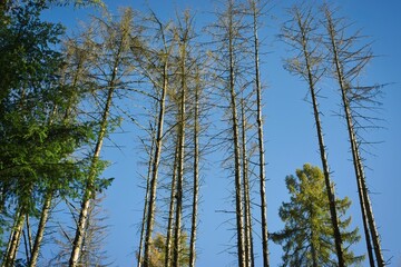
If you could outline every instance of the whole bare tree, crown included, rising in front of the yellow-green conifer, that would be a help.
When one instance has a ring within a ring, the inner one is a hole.
[[[314,20],[314,13],[311,8],[300,8],[294,6],[290,12],[292,20],[284,24],[282,30],[282,38],[297,52],[297,55],[294,58],[286,60],[285,68],[290,72],[304,79],[309,86],[313,106],[314,122],[317,131],[320,156],[325,178],[326,195],[330,205],[338,261],[339,266],[343,267],[345,261],[343,255],[342,236],[340,234],[339,217],[335,207],[335,191],[334,185],[330,178],[326,147],[324,145],[323,128],[320,118],[321,112],[317,102],[317,82],[324,72],[322,66],[323,56],[320,40],[316,38],[317,27]]]

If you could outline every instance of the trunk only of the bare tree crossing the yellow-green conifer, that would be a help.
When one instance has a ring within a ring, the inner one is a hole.
[[[326,191],[327,191],[331,221],[333,225],[333,237],[334,237],[334,243],[335,243],[335,251],[336,251],[336,256],[338,256],[338,260],[339,260],[339,267],[344,267],[345,263],[344,263],[344,256],[343,256],[343,250],[342,250],[342,237],[341,237],[340,227],[339,227],[339,217],[338,217],[336,208],[335,208],[334,187],[330,179],[329,162],[327,162],[325,145],[324,145],[324,139],[323,139],[323,131],[322,131],[322,126],[321,126],[321,120],[320,120],[319,103],[317,103],[316,93],[315,93],[315,80],[312,75],[312,69],[311,69],[311,63],[310,63],[311,58],[310,58],[310,53],[307,51],[307,37],[306,37],[307,33],[306,33],[306,29],[303,26],[301,13],[297,12],[296,16],[297,16],[297,18],[296,18],[297,24],[300,27],[300,31],[301,31],[301,36],[302,36],[303,55],[304,55],[305,62],[306,62],[305,67],[306,67],[306,71],[307,71],[307,80],[309,80],[309,87],[310,87],[310,92],[311,92],[311,98],[312,98],[313,113],[314,113],[315,126],[316,126],[316,131],[317,131],[319,149],[320,149],[320,155],[321,155],[321,160],[322,160],[322,166],[323,166],[325,187],[326,187]]]

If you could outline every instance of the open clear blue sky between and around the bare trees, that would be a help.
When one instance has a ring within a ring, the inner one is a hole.
[[[116,10],[117,6],[129,6],[134,9],[145,10],[145,1],[106,1]],[[186,7],[196,11],[196,24],[207,23],[213,11],[213,1],[207,0],[148,0],[148,6],[162,18],[175,18],[176,9]],[[285,2],[285,3],[284,3]],[[303,164],[311,162],[321,166],[317,152],[317,139],[313,123],[312,109],[304,101],[306,87],[299,78],[288,75],[282,68],[282,59],[286,50],[276,38],[278,26],[287,19],[284,8],[294,1],[275,1],[271,10],[272,18],[266,19],[266,27],[261,30],[265,38],[265,51],[263,57],[263,81],[268,89],[264,93],[265,116],[265,141],[266,141],[266,175],[270,179],[266,185],[268,201],[268,229],[280,230],[283,227],[277,216],[282,201],[287,201],[288,196],[284,184],[287,175],[294,174]],[[316,1],[320,2],[320,1]],[[387,129],[368,132],[370,140],[383,141],[370,149],[374,156],[366,156],[368,184],[372,191],[373,211],[382,237],[382,248],[385,259],[391,258],[390,266],[401,266],[401,2],[398,0],[340,0],[335,1],[342,9],[341,13],[355,21],[356,28],[363,28],[363,33],[371,36],[373,51],[381,57],[374,59],[365,73],[366,83],[393,82],[384,88],[382,99],[383,110],[380,117],[385,120]],[[61,19],[71,27],[76,19],[82,19],[89,10],[80,11],[53,11],[52,18]],[[329,149],[329,161],[336,184],[336,192],[340,197],[349,196],[353,205],[349,214],[353,217],[353,225],[360,227],[360,210],[358,206],[356,185],[349,154],[348,135],[344,122],[334,111],[340,107],[333,105],[335,95],[326,93],[321,106],[325,116],[323,128],[325,142]],[[135,132],[115,135],[113,139],[118,145],[125,146],[123,151],[114,148],[104,150],[104,158],[113,165],[105,176],[116,177],[113,186],[107,190],[105,207],[109,215],[110,235],[106,245],[110,259],[115,259],[116,266],[134,266],[135,250],[138,245],[137,227],[141,220],[144,190],[138,188],[139,179],[137,171],[141,166],[138,164],[138,145]],[[129,145],[133,144],[133,145]],[[202,205],[199,214],[198,234],[198,260],[197,266],[235,266],[235,256],[225,249],[234,246],[235,239],[229,222],[225,222],[229,216],[215,212],[227,206],[227,197],[232,190],[232,184],[218,170],[219,160],[209,158],[212,162],[203,172],[204,182],[200,189]],[[234,220],[231,221],[234,224]],[[255,241],[258,238],[255,237]],[[364,253],[363,239],[355,250]],[[235,249],[232,249],[235,251]],[[270,244],[271,264],[276,266],[281,261],[282,250],[280,246]],[[257,260],[261,260],[258,257]],[[260,261],[257,261],[260,263]],[[256,264],[258,266],[258,264]]]

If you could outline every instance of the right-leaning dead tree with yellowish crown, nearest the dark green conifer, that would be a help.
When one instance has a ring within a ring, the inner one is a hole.
[[[86,225],[90,202],[96,197],[96,192],[107,187],[108,179],[99,179],[98,176],[102,169],[100,161],[100,151],[107,134],[113,127],[110,111],[113,99],[118,89],[127,88],[125,77],[134,72],[133,59],[128,57],[131,46],[133,30],[133,10],[126,9],[120,21],[102,20],[97,18],[98,28],[90,29],[88,33],[94,34],[91,47],[88,52],[92,53],[92,90],[95,101],[100,106],[100,118],[96,144],[91,151],[90,166],[87,179],[84,185],[84,195],[81,199],[80,214],[77,222],[76,235],[72,243],[69,266],[77,266],[82,250],[82,240],[85,238]],[[97,42],[100,38],[99,42]]]

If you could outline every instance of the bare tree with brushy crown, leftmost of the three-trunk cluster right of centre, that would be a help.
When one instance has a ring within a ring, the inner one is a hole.
[[[239,105],[238,96],[246,88],[246,70],[244,59],[246,58],[246,31],[244,22],[244,9],[235,0],[227,0],[224,10],[217,11],[217,21],[211,26],[211,33],[216,43],[212,55],[216,62],[214,86],[221,86],[222,98],[226,99],[227,125],[229,127],[228,142],[231,147],[231,160],[234,175],[234,199],[237,239],[237,260],[239,267],[246,266],[245,258],[245,229],[244,229],[244,202],[242,187],[241,166],[241,136],[239,136]],[[212,31],[213,29],[213,31]],[[244,72],[242,72],[244,71]]]

